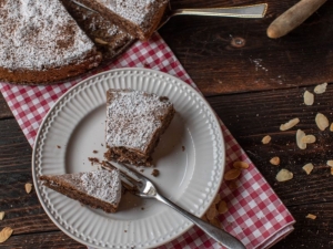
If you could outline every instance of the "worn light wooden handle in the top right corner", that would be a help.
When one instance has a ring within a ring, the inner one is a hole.
[[[281,38],[299,27],[326,0],[301,0],[276,18],[268,29],[269,38]]]

